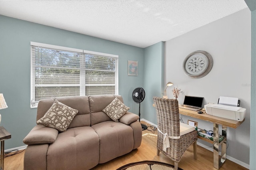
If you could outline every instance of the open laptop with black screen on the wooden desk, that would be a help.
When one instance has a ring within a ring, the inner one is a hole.
[[[199,111],[202,109],[203,100],[204,97],[185,96],[184,103],[179,108]]]

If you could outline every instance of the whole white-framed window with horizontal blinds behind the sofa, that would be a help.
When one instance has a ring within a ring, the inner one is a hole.
[[[118,56],[31,42],[31,107],[51,97],[118,94]]]

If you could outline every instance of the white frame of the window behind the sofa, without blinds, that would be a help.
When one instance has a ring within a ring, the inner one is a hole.
[[[32,56],[32,46],[36,47],[42,47],[42,48],[49,48],[49,49],[55,49],[55,50],[60,50],[60,51],[69,51],[69,52],[75,52],[75,53],[82,53],[83,56],[80,58],[80,96],[85,96],[86,94],[86,86],[89,86],[86,84],[86,68],[85,68],[85,55],[98,55],[102,57],[113,57],[118,59],[118,55],[113,55],[113,54],[108,54],[108,53],[100,53],[100,52],[95,52],[95,51],[88,51],[88,50],[83,50],[83,49],[76,49],[76,48],[70,48],[70,47],[62,47],[58,45],[50,45],[50,44],[45,44],[45,43],[38,43],[38,42],[30,42],[31,46],[31,73],[30,73],[30,108],[37,108],[38,101],[34,101],[35,99],[35,61],[33,61],[33,56]],[[83,67],[83,69],[81,69]],[[115,72],[115,95],[118,95],[118,60],[116,63],[116,70]],[[82,73],[82,74],[81,74]],[[109,84],[105,84],[109,85]],[[97,86],[95,84],[94,86]],[[102,85],[100,85],[102,86]]]

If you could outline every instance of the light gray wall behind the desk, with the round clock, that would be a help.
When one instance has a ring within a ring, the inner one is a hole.
[[[209,52],[214,60],[212,70],[200,79],[191,79],[182,68],[185,57],[196,50]],[[251,17],[248,8],[202,26],[165,44],[165,83],[171,81],[182,89],[178,97],[183,103],[184,95],[204,97],[204,104],[217,103],[220,96],[238,97],[246,117],[240,127],[228,128],[227,155],[249,164],[250,151],[250,84],[251,84]],[[172,87],[167,95],[173,98]],[[198,121],[199,128],[213,130],[212,123]],[[211,146],[207,142],[198,140]]]

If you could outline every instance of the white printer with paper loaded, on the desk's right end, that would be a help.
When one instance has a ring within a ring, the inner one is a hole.
[[[235,121],[243,121],[246,109],[238,107],[239,104],[240,103],[238,101],[238,98],[220,97],[218,104],[209,103],[207,105],[204,105],[204,108],[208,115],[213,115]]]

